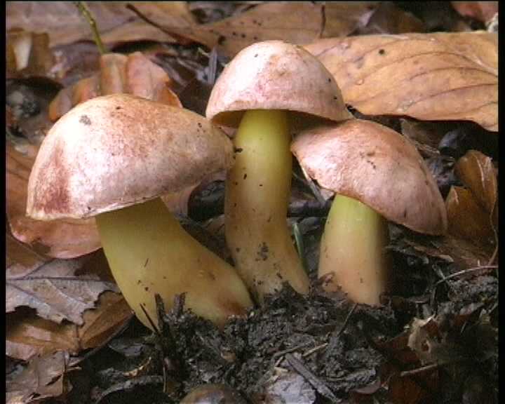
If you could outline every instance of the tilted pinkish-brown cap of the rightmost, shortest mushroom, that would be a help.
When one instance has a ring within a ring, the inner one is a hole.
[[[291,150],[321,187],[365,203],[391,222],[443,234],[447,213],[417,149],[394,130],[353,119],[304,130]]]

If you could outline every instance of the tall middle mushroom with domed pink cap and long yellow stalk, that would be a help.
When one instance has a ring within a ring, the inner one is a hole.
[[[206,116],[222,126],[238,126],[224,215],[227,243],[239,274],[259,302],[284,281],[307,293],[309,278],[286,223],[292,175],[290,126],[351,118],[335,80],[300,46],[254,43],[224,68],[210,94]]]

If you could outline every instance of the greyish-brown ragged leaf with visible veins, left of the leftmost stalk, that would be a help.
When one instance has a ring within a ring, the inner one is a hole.
[[[36,309],[42,318],[56,323],[67,319],[82,325],[83,311],[95,307],[100,293],[105,290],[119,292],[114,283],[102,281],[95,274],[76,275],[93,257],[34,260],[29,266],[10,259],[11,265],[6,269],[6,312],[27,306]]]

